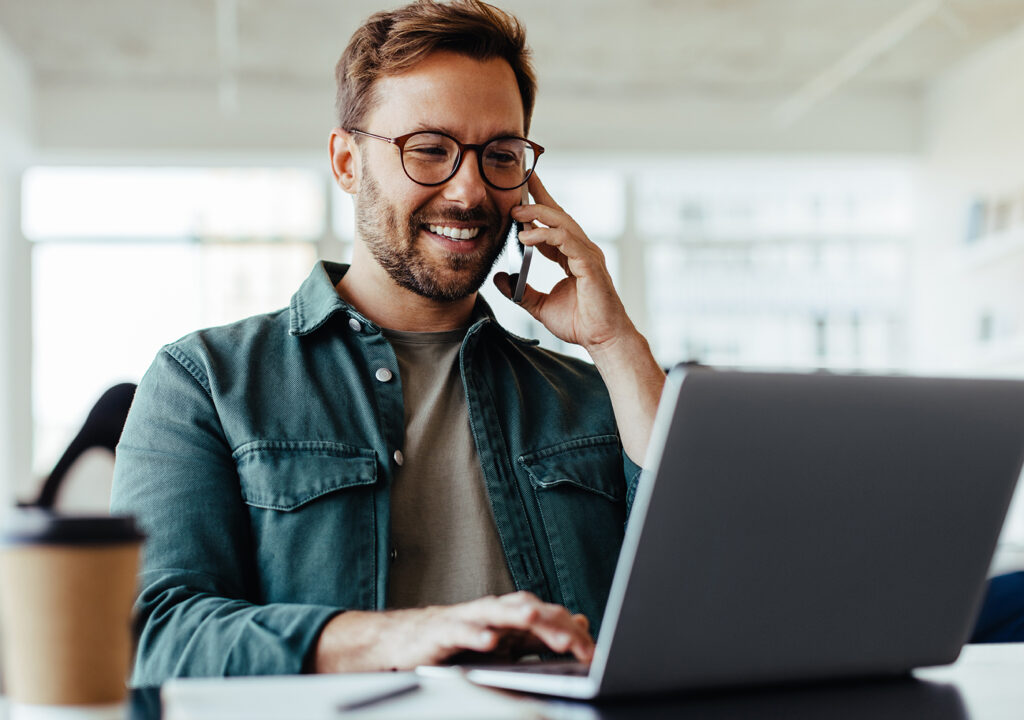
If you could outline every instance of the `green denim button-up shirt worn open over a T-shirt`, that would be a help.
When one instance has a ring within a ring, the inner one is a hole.
[[[167,345],[142,378],[112,498],[148,535],[133,684],[299,673],[332,617],[385,607],[401,378],[335,292],[346,270],[317,263],[290,307]],[[596,633],[640,470],[600,376],[482,299],[459,363],[516,587]]]

